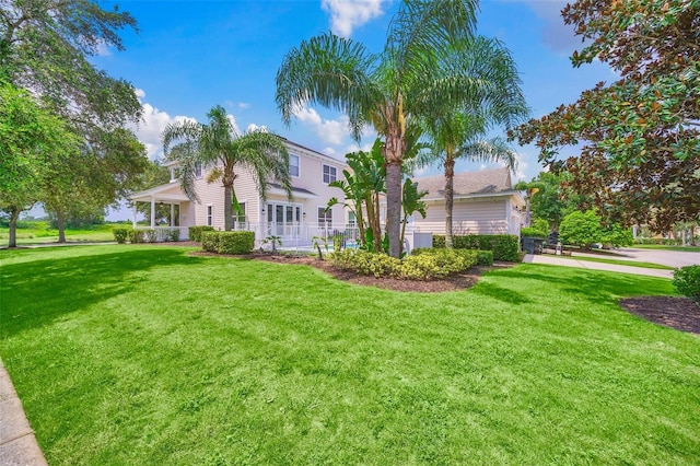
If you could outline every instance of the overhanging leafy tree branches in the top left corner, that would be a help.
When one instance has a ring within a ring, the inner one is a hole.
[[[51,103],[88,136],[141,115],[136,90],[88,60],[124,49],[119,32],[136,20],[94,0],[0,0],[0,77]]]

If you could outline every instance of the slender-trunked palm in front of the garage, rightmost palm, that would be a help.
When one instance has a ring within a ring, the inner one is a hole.
[[[440,161],[445,172],[445,246],[453,246],[452,211],[454,167],[457,159],[500,162],[515,170],[515,152],[501,138],[482,139],[493,125],[510,129],[528,115],[521,80],[510,53],[497,39],[475,37],[440,57],[439,69],[448,75],[457,67],[479,85],[457,105],[445,101],[431,107],[421,124],[432,141],[432,152],[421,154],[421,165]],[[444,71],[443,71],[444,70]]]

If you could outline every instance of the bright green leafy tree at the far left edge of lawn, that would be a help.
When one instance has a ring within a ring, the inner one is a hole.
[[[0,85],[0,210],[10,214],[9,247],[16,246],[16,222],[63,176],[62,166],[78,152],[69,125],[26,91]]]

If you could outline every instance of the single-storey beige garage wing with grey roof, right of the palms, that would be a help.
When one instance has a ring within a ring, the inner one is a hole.
[[[413,231],[445,234],[445,176],[413,178],[428,205],[425,219],[413,215]],[[513,189],[509,168],[480,170],[454,175],[452,231],[462,234],[520,235],[525,200]]]

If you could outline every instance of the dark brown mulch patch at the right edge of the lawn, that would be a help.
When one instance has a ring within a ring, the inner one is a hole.
[[[654,324],[700,335],[700,306],[687,298],[640,296],[619,303],[626,311]]]

